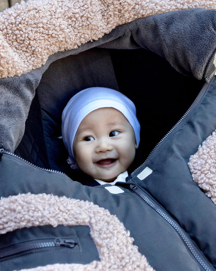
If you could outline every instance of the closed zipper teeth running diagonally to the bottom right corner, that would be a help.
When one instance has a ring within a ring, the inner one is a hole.
[[[148,205],[150,205],[157,213],[159,213],[176,231],[177,233],[181,236],[181,238],[184,240],[185,244],[187,245],[187,247],[189,248],[189,250],[191,251],[191,253],[193,254],[194,258],[198,261],[198,263],[206,270],[206,271],[210,271],[210,269],[208,268],[208,266],[203,262],[203,260],[201,260],[201,258],[197,255],[197,252],[194,250],[194,248],[192,247],[190,241],[188,240],[188,238],[186,237],[186,235],[182,232],[182,230],[177,226],[177,224],[172,221],[172,219],[170,219],[162,210],[160,210],[158,207],[156,207],[156,205],[150,200],[148,199],[145,195],[143,195],[142,192],[140,192],[137,188],[134,188],[133,191],[139,195]]]

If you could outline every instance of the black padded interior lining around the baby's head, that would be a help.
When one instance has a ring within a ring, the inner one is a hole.
[[[16,153],[36,165],[63,171],[75,180],[77,173],[67,165],[68,154],[59,138],[61,112],[78,91],[108,87],[128,96],[137,108],[141,140],[133,170],[184,115],[203,84],[183,76],[165,59],[145,49],[93,48],[56,60],[42,76],[34,99],[40,112],[37,109],[32,115],[30,110],[26,132]],[[28,133],[39,143],[29,144]]]

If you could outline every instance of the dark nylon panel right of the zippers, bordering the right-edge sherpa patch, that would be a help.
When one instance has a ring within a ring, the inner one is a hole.
[[[172,213],[216,267],[216,206],[193,182],[187,165],[215,129],[216,77],[193,116],[146,164],[152,174],[134,180]]]

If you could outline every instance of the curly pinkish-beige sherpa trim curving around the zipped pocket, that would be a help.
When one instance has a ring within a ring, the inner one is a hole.
[[[90,264],[54,264],[28,270],[146,270],[153,271],[141,255],[130,232],[115,215],[92,202],[31,193],[0,200],[0,234],[38,225],[89,225],[101,261]],[[25,269],[27,270],[27,269]]]

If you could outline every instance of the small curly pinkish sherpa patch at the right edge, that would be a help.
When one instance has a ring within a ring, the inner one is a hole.
[[[215,131],[216,132],[216,131]],[[213,132],[191,155],[189,168],[195,181],[216,204],[216,133]]]

